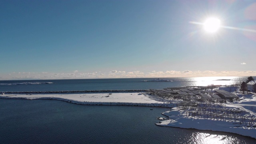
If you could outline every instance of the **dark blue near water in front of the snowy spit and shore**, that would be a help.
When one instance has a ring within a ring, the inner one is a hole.
[[[150,110],[153,109],[153,110]],[[156,126],[169,108],[0,99],[0,143],[252,144],[238,134]]]

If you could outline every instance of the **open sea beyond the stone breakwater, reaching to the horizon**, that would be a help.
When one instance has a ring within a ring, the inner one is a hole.
[[[247,77],[160,78],[173,82],[143,82],[156,78],[79,79],[79,80],[1,80],[0,92],[66,91],[66,90],[147,90],[168,87],[240,84]],[[221,80],[229,79],[229,80]],[[54,84],[22,84],[24,82],[53,82]],[[19,83],[19,84],[17,84]],[[10,84],[10,85],[6,85]],[[12,85],[17,84],[17,85]]]

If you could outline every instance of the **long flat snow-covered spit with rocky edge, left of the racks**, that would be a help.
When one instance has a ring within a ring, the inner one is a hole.
[[[97,93],[97,94],[5,94],[5,99],[61,100],[73,104],[86,105],[124,105],[173,107],[170,102],[152,99],[142,93]]]

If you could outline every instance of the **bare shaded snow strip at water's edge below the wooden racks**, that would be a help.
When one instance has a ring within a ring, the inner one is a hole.
[[[169,126],[177,128],[194,128],[197,130],[211,130],[219,132],[230,132],[240,134],[242,136],[249,136],[256,138],[256,128],[239,126],[235,122],[228,122],[220,119],[208,119],[200,118],[198,116],[186,116],[186,114],[179,112],[178,110],[171,110],[162,113],[169,117],[169,120],[161,121],[157,123],[158,126]]]

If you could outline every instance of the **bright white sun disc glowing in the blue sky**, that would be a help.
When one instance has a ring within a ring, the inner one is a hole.
[[[220,20],[218,18],[207,18],[204,22],[204,30],[207,32],[217,32],[220,28]]]

